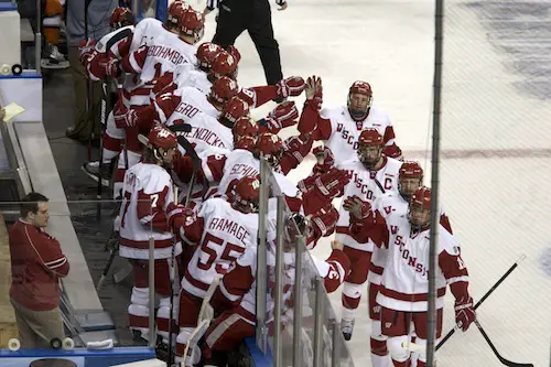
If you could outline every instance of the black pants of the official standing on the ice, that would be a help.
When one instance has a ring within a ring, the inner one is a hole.
[[[213,43],[226,48],[247,30],[264,68],[266,82],[274,85],[283,78],[278,41],[273,37],[272,14],[268,0],[223,0]]]

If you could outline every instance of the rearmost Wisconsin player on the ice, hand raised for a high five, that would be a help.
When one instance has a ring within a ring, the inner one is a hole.
[[[299,123],[299,131],[313,132],[314,140],[323,140],[335,154],[338,168],[357,161],[358,138],[366,128],[377,129],[382,136],[387,156],[401,158],[401,150],[395,142],[392,123],[385,111],[372,106],[372,91],[368,83],[354,82],[348,90],[347,106],[324,109],[321,109],[321,79],[310,78],[309,84],[315,85],[315,91],[306,95],[304,119]]]

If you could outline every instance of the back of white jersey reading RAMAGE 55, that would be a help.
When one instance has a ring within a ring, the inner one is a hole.
[[[202,298],[215,277],[224,276],[246,248],[257,246],[258,215],[241,213],[226,199],[213,197],[203,203],[197,216],[204,233],[182,285]]]

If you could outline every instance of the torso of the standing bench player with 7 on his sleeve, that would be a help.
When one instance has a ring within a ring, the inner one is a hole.
[[[120,253],[122,257],[148,259],[149,239],[155,240],[155,257],[170,255],[172,234],[170,231],[152,230],[151,226],[143,225],[140,213],[150,213],[152,205],[156,205],[155,193],[168,192],[165,203],[173,201],[172,180],[163,168],[156,164],[138,163],[125,174],[122,186],[123,199],[120,208]],[[153,194],[151,201],[140,199],[142,194]],[[159,252],[160,251],[160,252]],[[156,253],[159,252],[159,253]]]

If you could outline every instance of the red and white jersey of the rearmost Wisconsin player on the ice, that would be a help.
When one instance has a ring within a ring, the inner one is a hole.
[[[346,106],[324,108],[320,115],[311,108],[304,108],[303,114],[305,114],[304,119],[317,119],[313,139],[323,140],[325,145],[333,151],[337,168],[358,160],[356,153],[358,138],[361,130],[366,128],[377,129],[385,143],[383,153],[386,155],[391,158],[400,158],[401,155],[401,151],[395,142],[395,130],[390,118],[387,112],[376,106],[371,106],[367,118],[359,122],[350,117]]]

